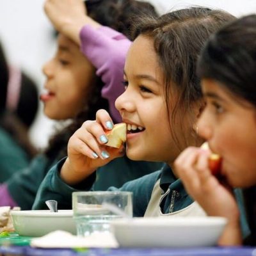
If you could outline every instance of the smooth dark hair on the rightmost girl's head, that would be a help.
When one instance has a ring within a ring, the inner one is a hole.
[[[256,15],[228,24],[211,36],[198,61],[198,75],[221,82],[256,106]]]

